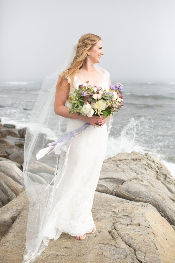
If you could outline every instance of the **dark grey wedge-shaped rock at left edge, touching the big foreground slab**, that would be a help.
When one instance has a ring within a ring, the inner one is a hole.
[[[0,204],[4,206],[8,202],[12,201],[14,197],[16,197],[15,194],[10,190],[10,188],[0,178]]]

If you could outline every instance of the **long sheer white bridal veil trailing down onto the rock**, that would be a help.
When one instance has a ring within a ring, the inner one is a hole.
[[[32,110],[25,135],[23,177],[26,194],[30,201],[28,224],[26,230],[26,249],[23,254],[24,262],[34,262],[36,257],[48,246],[49,237],[44,236],[44,228],[49,220],[51,211],[58,198],[60,182],[68,161],[68,149],[63,146],[60,154],[51,152],[39,161],[36,154],[49,143],[58,140],[65,132],[68,119],[56,115],[54,101],[56,84],[63,70],[69,68],[77,51],[76,41],[63,62],[52,75],[46,77],[41,86],[38,98]],[[104,69],[97,64],[94,68],[103,76]],[[108,135],[112,127],[113,116],[107,122]],[[65,182],[66,183],[66,182]],[[56,240],[61,231],[57,230]]]

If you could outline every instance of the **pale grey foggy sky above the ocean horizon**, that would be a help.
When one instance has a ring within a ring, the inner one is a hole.
[[[0,81],[42,82],[85,33],[115,82],[175,82],[174,0],[1,0]]]

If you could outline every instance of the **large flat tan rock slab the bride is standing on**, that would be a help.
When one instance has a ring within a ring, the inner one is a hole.
[[[0,209],[1,263],[23,260],[28,209],[25,191]],[[175,232],[152,205],[96,191],[92,215],[94,234],[87,233],[81,242],[62,233],[36,262],[174,262]]]

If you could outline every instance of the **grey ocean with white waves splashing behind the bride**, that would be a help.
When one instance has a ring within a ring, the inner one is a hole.
[[[27,127],[41,85],[0,83],[1,123]],[[114,113],[105,159],[123,152],[150,153],[175,177],[175,83],[122,85],[124,106]]]

